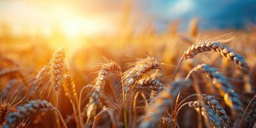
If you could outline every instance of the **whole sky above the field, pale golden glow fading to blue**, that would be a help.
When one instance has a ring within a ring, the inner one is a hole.
[[[141,24],[153,22],[159,31],[166,30],[173,20],[180,20],[179,29],[186,30],[189,21],[193,18],[199,20],[200,29],[243,29],[246,23],[256,22],[255,0],[130,0],[130,2],[132,17]],[[0,22],[10,21],[14,24],[14,28],[17,28],[24,24],[47,27],[51,26],[52,21],[61,20],[61,22],[68,21],[67,24],[72,26],[87,22],[88,28],[92,22],[104,20],[106,25],[102,28],[106,28],[111,26],[113,19],[118,19],[122,15],[124,3],[125,1],[119,0],[3,0],[0,1]],[[88,19],[93,20],[88,21]]]

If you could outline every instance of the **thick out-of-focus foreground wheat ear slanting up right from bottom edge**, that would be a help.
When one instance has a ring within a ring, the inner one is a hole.
[[[166,108],[168,108],[171,103],[175,102],[175,97],[177,97],[182,88],[188,87],[190,84],[191,82],[188,79],[179,79],[171,83],[171,86],[164,88],[163,92],[157,95],[156,101],[150,103],[145,118],[143,118],[140,124],[140,128],[154,127],[154,124],[161,120],[161,116]]]

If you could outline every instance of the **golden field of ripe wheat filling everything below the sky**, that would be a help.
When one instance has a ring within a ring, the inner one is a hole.
[[[256,127],[255,25],[159,32],[122,8],[108,35],[1,24],[0,126]]]

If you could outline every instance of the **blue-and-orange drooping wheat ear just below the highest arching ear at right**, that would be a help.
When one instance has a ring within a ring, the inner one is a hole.
[[[220,95],[224,97],[225,103],[233,110],[234,115],[241,117],[243,114],[243,104],[240,100],[240,95],[236,93],[233,86],[228,82],[227,77],[223,76],[216,68],[212,68],[207,64],[201,64],[189,71],[187,78],[192,72],[201,70],[207,77],[212,80],[212,83],[218,88]]]

